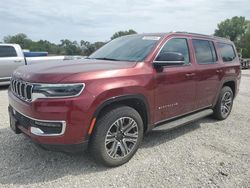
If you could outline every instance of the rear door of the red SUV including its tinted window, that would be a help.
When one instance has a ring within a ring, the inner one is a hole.
[[[213,41],[192,39],[197,64],[196,109],[213,104],[223,76]]]

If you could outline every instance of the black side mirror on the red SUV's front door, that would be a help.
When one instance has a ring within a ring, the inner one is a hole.
[[[185,63],[184,56],[178,52],[164,52],[160,53],[153,65],[156,68],[171,66],[171,65],[183,65]]]

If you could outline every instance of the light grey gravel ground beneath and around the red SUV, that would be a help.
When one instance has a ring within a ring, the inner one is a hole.
[[[7,88],[0,88],[0,187],[250,187],[250,70],[225,121],[205,118],[151,132],[117,168],[87,153],[45,151],[9,128]]]

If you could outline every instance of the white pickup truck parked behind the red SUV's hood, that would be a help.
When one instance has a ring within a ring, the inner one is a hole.
[[[8,85],[11,74],[19,66],[36,63],[58,62],[62,60],[81,59],[83,56],[44,56],[25,57],[18,44],[0,44],[0,86]]]

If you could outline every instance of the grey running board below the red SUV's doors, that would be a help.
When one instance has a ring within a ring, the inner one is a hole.
[[[156,126],[155,128],[153,128],[153,130],[163,131],[163,130],[172,129],[172,128],[175,128],[175,127],[178,127],[178,126],[181,126],[184,124],[188,124],[188,123],[193,122],[195,120],[201,119],[203,117],[209,116],[211,114],[213,114],[212,109],[202,110],[202,111],[196,112],[194,114],[187,115],[187,116],[181,117],[179,119],[169,121],[165,124]]]

